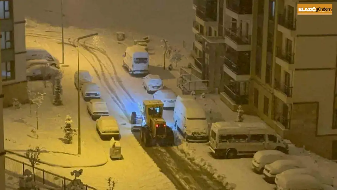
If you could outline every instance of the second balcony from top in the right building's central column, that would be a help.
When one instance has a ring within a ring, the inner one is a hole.
[[[236,51],[251,51],[251,35],[242,35],[238,28],[225,28],[225,43]]]

